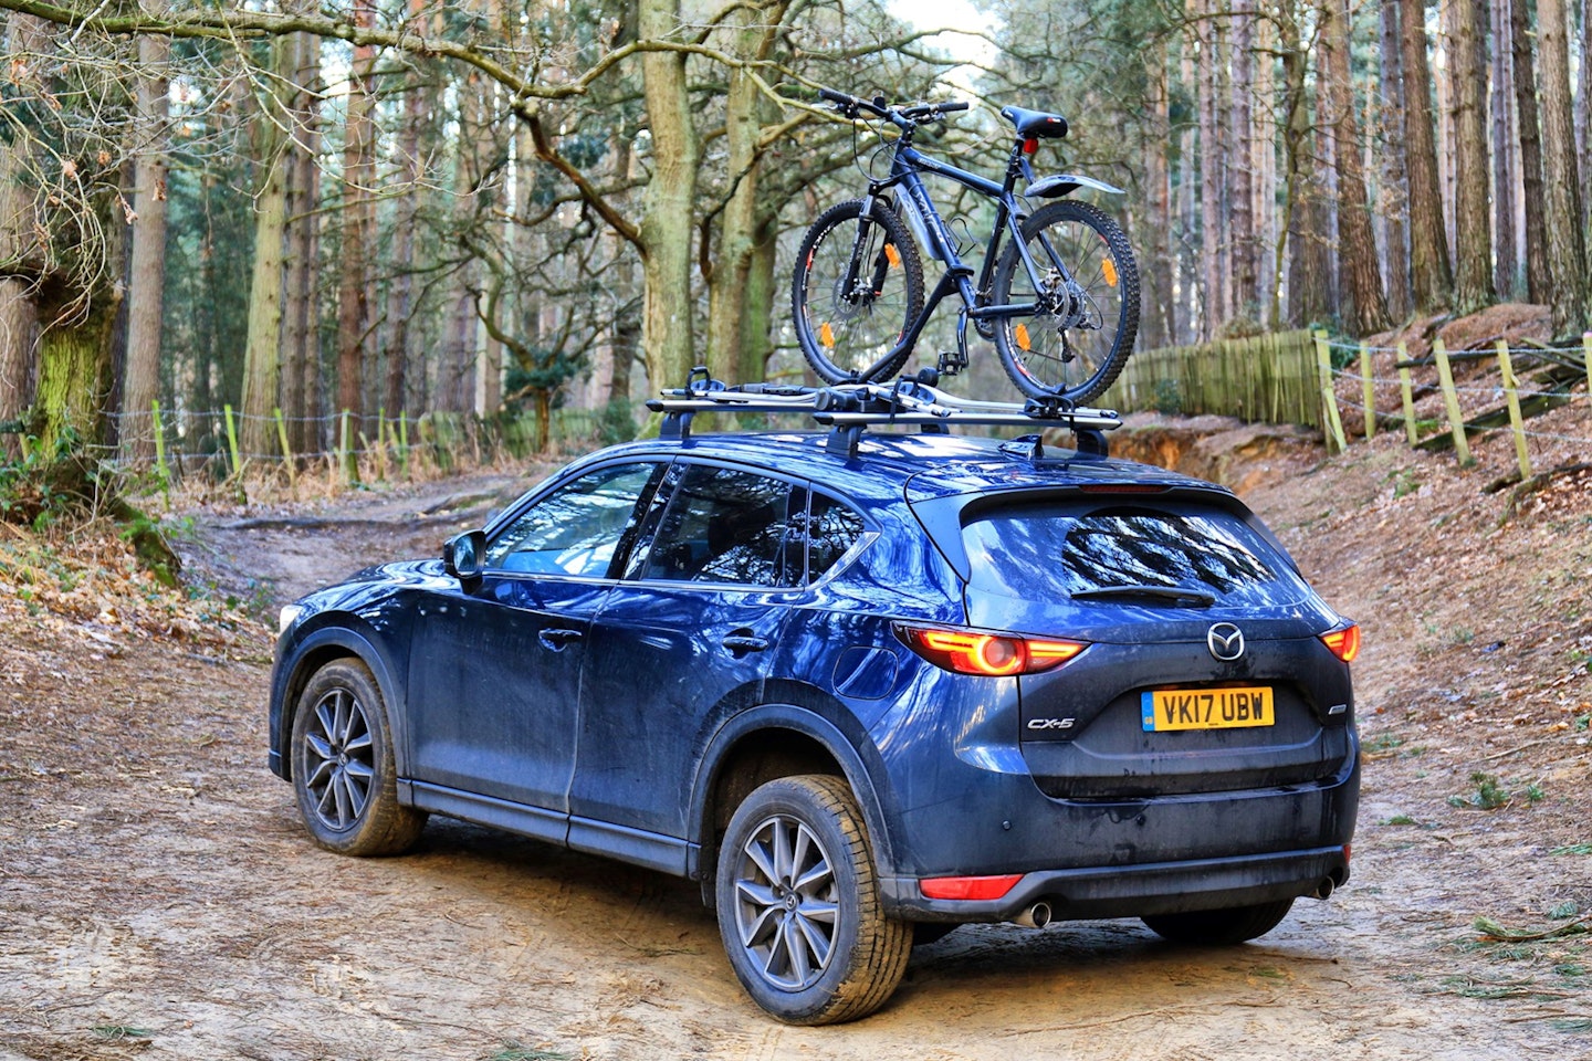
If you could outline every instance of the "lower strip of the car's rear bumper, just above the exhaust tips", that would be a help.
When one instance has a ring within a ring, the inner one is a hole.
[[[1035,870],[1001,899],[925,899],[917,878],[880,881],[885,907],[911,921],[1009,921],[1036,902],[1060,921],[1248,907],[1313,896],[1321,881],[1348,880],[1342,845],[1146,865]]]

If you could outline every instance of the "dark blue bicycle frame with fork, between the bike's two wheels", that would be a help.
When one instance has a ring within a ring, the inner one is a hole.
[[[1033,180],[1033,169],[1028,165],[1028,148],[1030,142],[1017,138],[1013,145],[1011,157],[1006,162],[1006,180],[997,185],[992,180],[979,177],[977,173],[970,173],[965,169],[950,165],[949,162],[941,162],[933,159],[917,148],[912,146],[912,130],[903,129],[901,138],[896,142],[892,151],[890,161],[890,177],[882,181],[868,181],[868,199],[869,204],[863,210],[863,224],[858,226],[856,245],[852,250],[852,261],[847,269],[847,291],[853,291],[856,283],[856,274],[861,269],[861,248],[866,242],[868,218],[872,216],[872,204],[882,202],[887,210],[893,210],[895,204],[885,196],[892,188],[901,189],[901,192],[909,199],[909,208],[915,210],[919,218],[923,221],[923,231],[928,235],[928,253],[946,264],[946,272],[941,274],[939,283],[935,285],[933,293],[930,293],[928,301],[923,302],[923,309],[919,315],[907,321],[906,331],[901,332],[901,339],[896,345],[879,358],[861,379],[872,379],[874,372],[879,372],[887,363],[901,356],[903,350],[911,350],[917,345],[919,336],[923,334],[923,328],[928,326],[928,318],[933,315],[935,307],[938,307],[950,294],[960,294],[963,309],[957,313],[957,356],[960,364],[957,367],[966,367],[968,361],[968,318],[974,320],[997,320],[1001,317],[1030,317],[1040,310],[1038,304],[1011,304],[1011,305],[979,305],[977,291],[989,291],[990,278],[995,275],[995,259],[1000,251],[1000,240],[1005,232],[1011,232],[1011,239],[1017,245],[1017,255],[1022,258],[1024,267],[1028,270],[1030,280],[1033,280],[1035,290],[1040,288],[1040,270],[1035,266],[1033,256],[1028,253],[1028,247],[1022,239],[1022,221],[1027,215],[1019,208],[1017,197],[1013,189],[1017,186],[1017,180]],[[919,175],[922,172],[935,173],[936,177],[944,177],[965,188],[971,188],[987,199],[993,199],[997,204],[995,226],[990,232],[989,243],[984,247],[984,267],[977,274],[977,290],[973,286],[971,277],[974,270],[957,253],[957,242],[950,235],[950,229],[946,226],[946,220],[939,216],[939,210],[935,208],[935,200],[928,197],[928,189],[923,185],[923,178]],[[1068,274],[1067,266],[1062,262],[1060,256],[1051,250],[1049,251],[1051,266],[1060,272],[1060,275],[1071,282],[1071,274]],[[877,264],[876,269],[882,269]],[[877,291],[882,285],[876,283]]]

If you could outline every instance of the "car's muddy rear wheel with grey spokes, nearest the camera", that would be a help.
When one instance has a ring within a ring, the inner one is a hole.
[[[868,1016],[912,951],[912,926],[884,915],[856,800],[821,775],[769,781],[736,810],[718,927],[747,994],[790,1024]]]

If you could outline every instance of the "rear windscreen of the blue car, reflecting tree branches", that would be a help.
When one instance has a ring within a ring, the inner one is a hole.
[[[1154,587],[1245,604],[1278,603],[1278,590],[1286,598],[1305,592],[1261,534],[1205,506],[1017,504],[976,515],[962,534],[974,589],[1005,597]]]

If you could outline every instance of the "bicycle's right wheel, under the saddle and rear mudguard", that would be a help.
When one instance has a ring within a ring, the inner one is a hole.
[[[1008,242],[990,286],[993,305],[1035,304],[1032,317],[995,320],[995,350],[1028,398],[1083,404],[1127,364],[1138,332],[1138,266],[1116,221],[1086,202],[1063,199],[1022,224],[1038,283],[1016,242]],[[1068,283],[1063,270],[1071,274]]]

